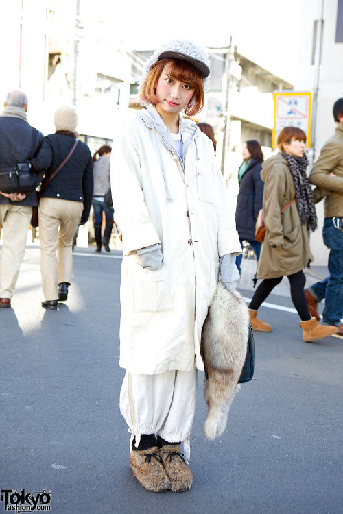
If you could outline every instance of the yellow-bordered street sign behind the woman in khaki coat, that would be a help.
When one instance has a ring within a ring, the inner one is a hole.
[[[311,93],[274,92],[273,148],[277,146],[278,136],[284,127],[302,129],[307,136],[306,148],[311,146]]]

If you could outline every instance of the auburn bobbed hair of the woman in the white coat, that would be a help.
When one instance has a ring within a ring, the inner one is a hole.
[[[139,90],[141,100],[147,103],[151,102],[154,105],[158,103],[156,86],[165,66],[165,74],[168,77],[185,82],[185,84],[194,88],[193,97],[185,108],[187,116],[194,116],[204,107],[204,77],[190,62],[169,58],[155,62],[141,84]]]

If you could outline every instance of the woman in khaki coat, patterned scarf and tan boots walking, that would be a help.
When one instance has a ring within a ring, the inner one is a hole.
[[[278,137],[281,153],[262,164],[264,185],[263,212],[267,232],[257,265],[257,278],[263,282],[249,304],[254,330],[271,332],[268,323],[257,318],[262,302],[287,276],[294,307],[301,319],[304,341],[314,341],[335,334],[335,327],[319,326],[311,318],[305,299],[303,268],[313,257],[309,248],[309,230],[317,228],[314,196],[309,185],[305,155],[306,134],[296,127],[285,127]]]

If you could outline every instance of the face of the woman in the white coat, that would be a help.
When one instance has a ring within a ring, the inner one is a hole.
[[[158,98],[158,106],[169,114],[176,114],[187,106],[187,103],[194,95],[194,88],[173,79],[165,73],[165,65],[156,85],[156,97]]]

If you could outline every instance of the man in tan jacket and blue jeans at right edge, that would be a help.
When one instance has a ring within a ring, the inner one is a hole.
[[[325,189],[324,244],[330,249],[329,277],[305,290],[312,315],[319,318],[317,303],[325,298],[323,322],[339,327],[333,337],[343,338],[343,98],[333,105],[335,134],[325,143],[309,175],[311,184]]]

